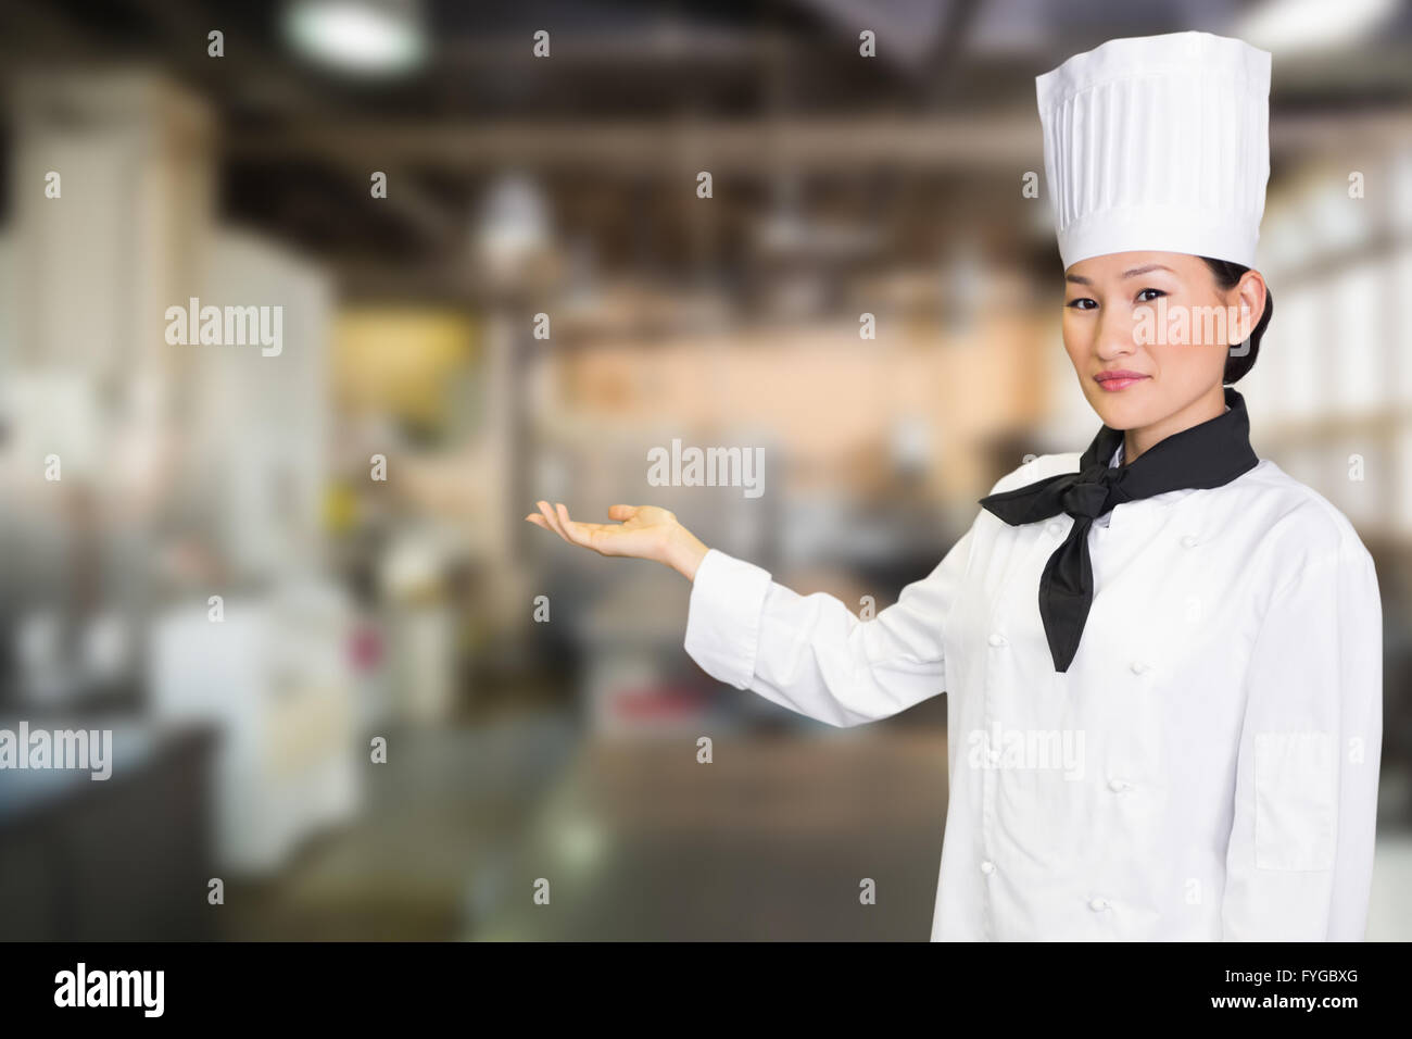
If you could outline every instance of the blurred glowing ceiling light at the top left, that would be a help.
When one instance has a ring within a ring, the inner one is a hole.
[[[305,57],[349,72],[405,72],[426,55],[417,0],[294,0],[284,31]]]

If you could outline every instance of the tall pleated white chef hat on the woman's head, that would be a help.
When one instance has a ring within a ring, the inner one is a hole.
[[[1210,33],[1110,40],[1035,88],[1065,269],[1132,250],[1255,266],[1268,51]]]

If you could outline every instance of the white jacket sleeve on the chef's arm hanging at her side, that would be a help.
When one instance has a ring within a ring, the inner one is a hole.
[[[1227,941],[1361,941],[1382,742],[1382,605],[1360,544],[1274,597],[1248,671]]]

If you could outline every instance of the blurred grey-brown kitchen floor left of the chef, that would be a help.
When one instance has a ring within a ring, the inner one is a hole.
[[[939,732],[576,741],[554,718],[405,732],[361,820],[227,885],[244,939],[914,939],[946,803]],[[858,903],[873,878],[877,905]],[[549,903],[532,900],[549,881]]]

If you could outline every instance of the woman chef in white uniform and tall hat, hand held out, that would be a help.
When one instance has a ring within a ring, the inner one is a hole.
[[[1269,54],[1111,40],[1036,86],[1063,344],[1103,420],[1087,450],[1003,476],[866,622],[664,509],[527,519],[686,575],[686,652],[737,688],[832,725],[947,693],[933,940],[1361,940],[1377,575],[1333,505],[1255,455],[1230,386],[1271,314]]]

